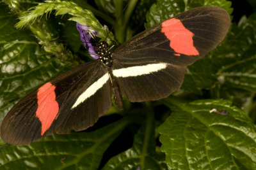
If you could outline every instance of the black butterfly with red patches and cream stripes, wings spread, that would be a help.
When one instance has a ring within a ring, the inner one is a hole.
[[[4,118],[1,138],[28,145],[53,132],[91,127],[112,105],[156,101],[182,85],[186,67],[216,48],[230,27],[227,11],[205,6],[147,29],[111,52],[95,46],[99,59],[70,69],[24,97]]]

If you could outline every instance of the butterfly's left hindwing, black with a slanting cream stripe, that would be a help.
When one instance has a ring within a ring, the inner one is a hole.
[[[73,91],[76,90],[76,93]],[[111,80],[103,65],[86,73],[60,108],[53,131],[67,134],[73,129],[82,131],[97,122],[111,107]]]

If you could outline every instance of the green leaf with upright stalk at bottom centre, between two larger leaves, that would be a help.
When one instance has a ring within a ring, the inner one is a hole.
[[[132,148],[110,159],[102,169],[167,169],[164,154],[156,151],[154,113],[143,112],[147,113],[147,119],[134,136]]]

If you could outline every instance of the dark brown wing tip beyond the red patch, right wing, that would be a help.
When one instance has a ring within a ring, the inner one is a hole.
[[[199,56],[204,57],[225,38],[230,27],[230,16],[227,11],[214,6],[194,8],[189,11],[180,13],[175,18],[195,34],[194,46]]]

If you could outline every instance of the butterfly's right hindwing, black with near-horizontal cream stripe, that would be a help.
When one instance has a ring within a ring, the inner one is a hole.
[[[115,65],[116,66],[116,65]],[[179,89],[186,67],[167,63],[144,62],[113,70],[122,94],[131,102],[154,101],[168,97]]]

